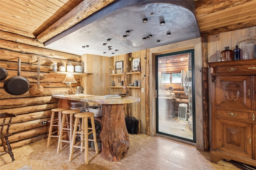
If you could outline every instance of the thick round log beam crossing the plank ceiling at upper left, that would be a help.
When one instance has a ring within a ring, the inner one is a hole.
[[[90,16],[94,12],[104,8],[108,4],[114,2],[115,0],[85,0],[71,10],[60,20],[56,21],[42,33],[40,33],[36,39],[40,43],[44,43],[47,40],[51,39],[55,35],[58,35],[62,31],[72,27],[79,21]]]

